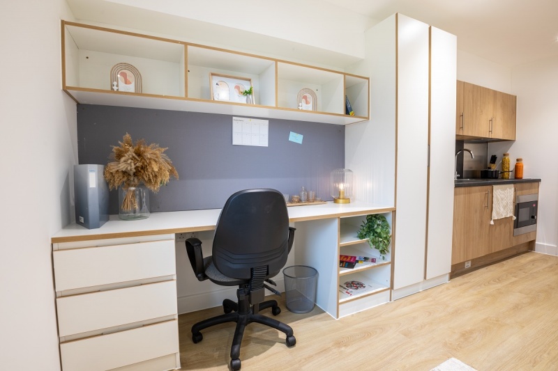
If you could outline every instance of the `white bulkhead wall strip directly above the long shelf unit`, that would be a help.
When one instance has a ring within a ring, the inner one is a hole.
[[[268,1],[112,0],[128,6],[179,15],[352,56],[364,56],[364,31],[370,19],[319,0]],[[212,9],[218,9],[214,13]],[[226,16],[223,16],[226,15]],[[310,17],[308,15],[311,15]]]

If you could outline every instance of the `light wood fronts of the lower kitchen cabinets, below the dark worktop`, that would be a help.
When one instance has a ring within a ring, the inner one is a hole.
[[[515,196],[538,194],[538,182],[517,183],[514,188]],[[452,265],[536,239],[536,232],[514,237],[511,218],[496,219],[490,224],[492,196],[492,186],[455,188]]]

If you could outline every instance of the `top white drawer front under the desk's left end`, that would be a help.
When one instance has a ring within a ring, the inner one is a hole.
[[[176,273],[172,239],[59,250],[52,259],[56,291]]]

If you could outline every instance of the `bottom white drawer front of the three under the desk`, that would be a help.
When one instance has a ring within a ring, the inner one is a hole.
[[[63,371],[100,371],[179,352],[178,321],[60,345]]]

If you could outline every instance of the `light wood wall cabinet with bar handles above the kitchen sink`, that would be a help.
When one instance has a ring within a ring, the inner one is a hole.
[[[461,140],[515,141],[516,104],[515,95],[458,81],[455,135]]]

